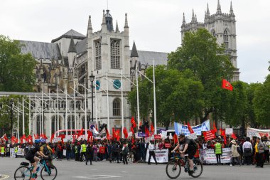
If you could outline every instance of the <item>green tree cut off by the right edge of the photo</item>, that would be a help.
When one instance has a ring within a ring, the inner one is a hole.
[[[266,77],[263,85],[255,90],[254,112],[259,124],[270,125],[270,75]]]

